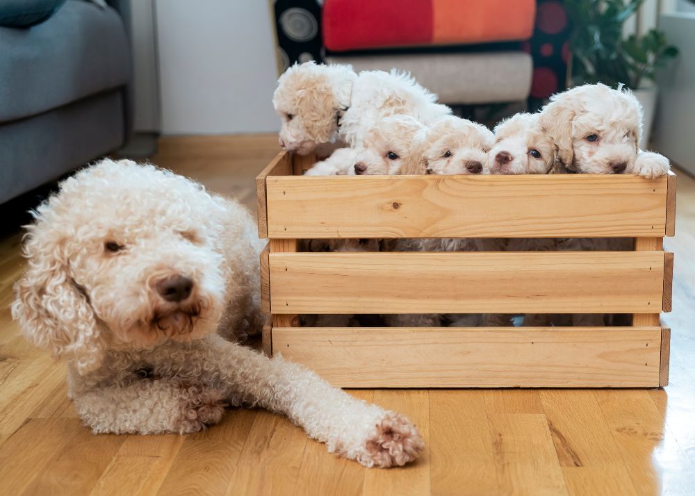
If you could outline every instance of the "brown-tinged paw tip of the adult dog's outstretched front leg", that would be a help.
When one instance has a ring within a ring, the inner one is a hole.
[[[388,468],[413,461],[425,449],[418,429],[399,413],[387,412],[373,429],[358,461],[365,467]]]

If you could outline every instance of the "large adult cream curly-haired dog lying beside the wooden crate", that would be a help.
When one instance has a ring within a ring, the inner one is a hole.
[[[13,315],[67,358],[69,395],[95,433],[195,432],[243,404],[367,467],[416,458],[423,441],[406,418],[222,337],[261,323],[259,248],[236,201],[104,160],[38,208]]]

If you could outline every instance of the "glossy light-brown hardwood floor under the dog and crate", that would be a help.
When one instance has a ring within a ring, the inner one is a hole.
[[[164,138],[152,162],[254,207],[274,135]],[[694,494],[695,180],[678,178],[671,383],[659,390],[351,390],[423,433],[417,463],[366,470],[286,418],[231,410],[190,436],[94,436],[65,365],[18,336],[8,308],[19,234],[0,239],[0,494]]]

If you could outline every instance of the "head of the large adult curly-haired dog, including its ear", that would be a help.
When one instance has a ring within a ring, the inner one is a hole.
[[[106,349],[215,331],[230,274],[224,201],[181,176],[103,160],[63,181],[28,226],[13,315],[54,356],[94,370]]]

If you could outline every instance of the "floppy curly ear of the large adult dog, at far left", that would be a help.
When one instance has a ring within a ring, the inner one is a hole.
[[[24,337],[53,356],[74,361],[80,374],[104,358],[104,337],[92,306],[73,281],[67,258],[45,226],[31,226],[24,245],[28,258],[15,284],[12,314]]]

